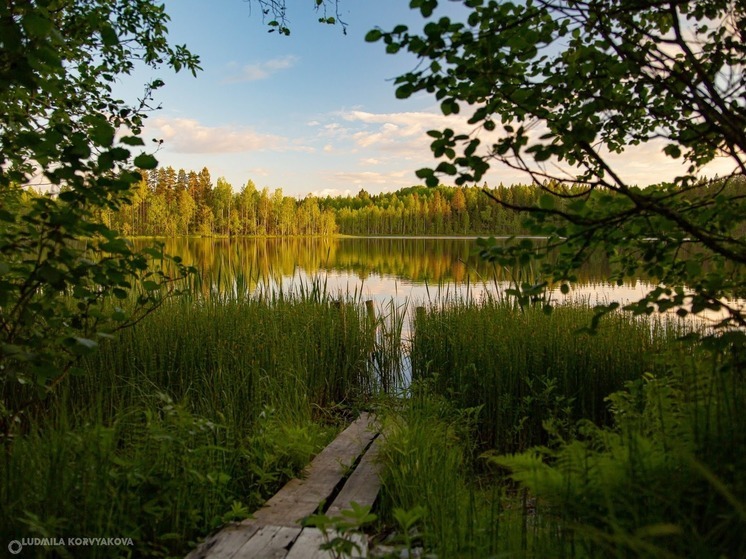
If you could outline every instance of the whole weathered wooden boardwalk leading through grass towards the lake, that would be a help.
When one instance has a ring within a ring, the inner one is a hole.
[[[233,523],[209,536],[187,559],[326,559],[319,550],[324,542],[317,528],[301,522],[319,512],[322,503],[328,516],[350,508],[353,501],[373,506],[380,489],[375,463],[378,430],[374,418],[363,413],[304,470],[290,480],[252,518]],[[360,534],[355,543],[367,554],[367,540]]]

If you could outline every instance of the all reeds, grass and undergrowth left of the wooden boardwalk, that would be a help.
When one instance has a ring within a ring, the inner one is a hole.
[[[80,363],[0,456],[0,540],[129,537],[28,555],[175,556],[243,518],[378,389],[365,308],[195,293]],[[330,427],[331,426],[331,427]]]

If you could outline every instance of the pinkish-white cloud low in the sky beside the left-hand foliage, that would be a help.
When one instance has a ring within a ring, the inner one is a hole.
[[[252,151],[313,151],[298,141],[263,134],[246,127],[206,126],[189,118],[156,118],[148,123],[146,137],[163,140],[175,153],[243,153]]]

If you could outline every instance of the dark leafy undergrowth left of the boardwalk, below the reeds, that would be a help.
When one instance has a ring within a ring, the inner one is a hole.
[[[19,438],[2,457],[11,480],[0,487],[3,540],[126,537],[134,547],[76,548],[75,556],[183,555],[224,522],[248,517],[328,442],[329,431],[308,418],[267,413],[247,438],[242,426],[187,407],[155,393],[107,424],[63,419]]]

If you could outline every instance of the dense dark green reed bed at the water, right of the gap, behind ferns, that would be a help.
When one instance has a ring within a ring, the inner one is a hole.
[[[663,321],[616,314],[594,334],[593,309],[454,300],[420,308],[414,318],[412,376],[432,379],[459,407],[482,406],[479,434],[500,452],[546,442],[543,422],[571,429],[581,418],[610,419],[605,398],[625,381],[661,370],[655,355],[681,334]]]

